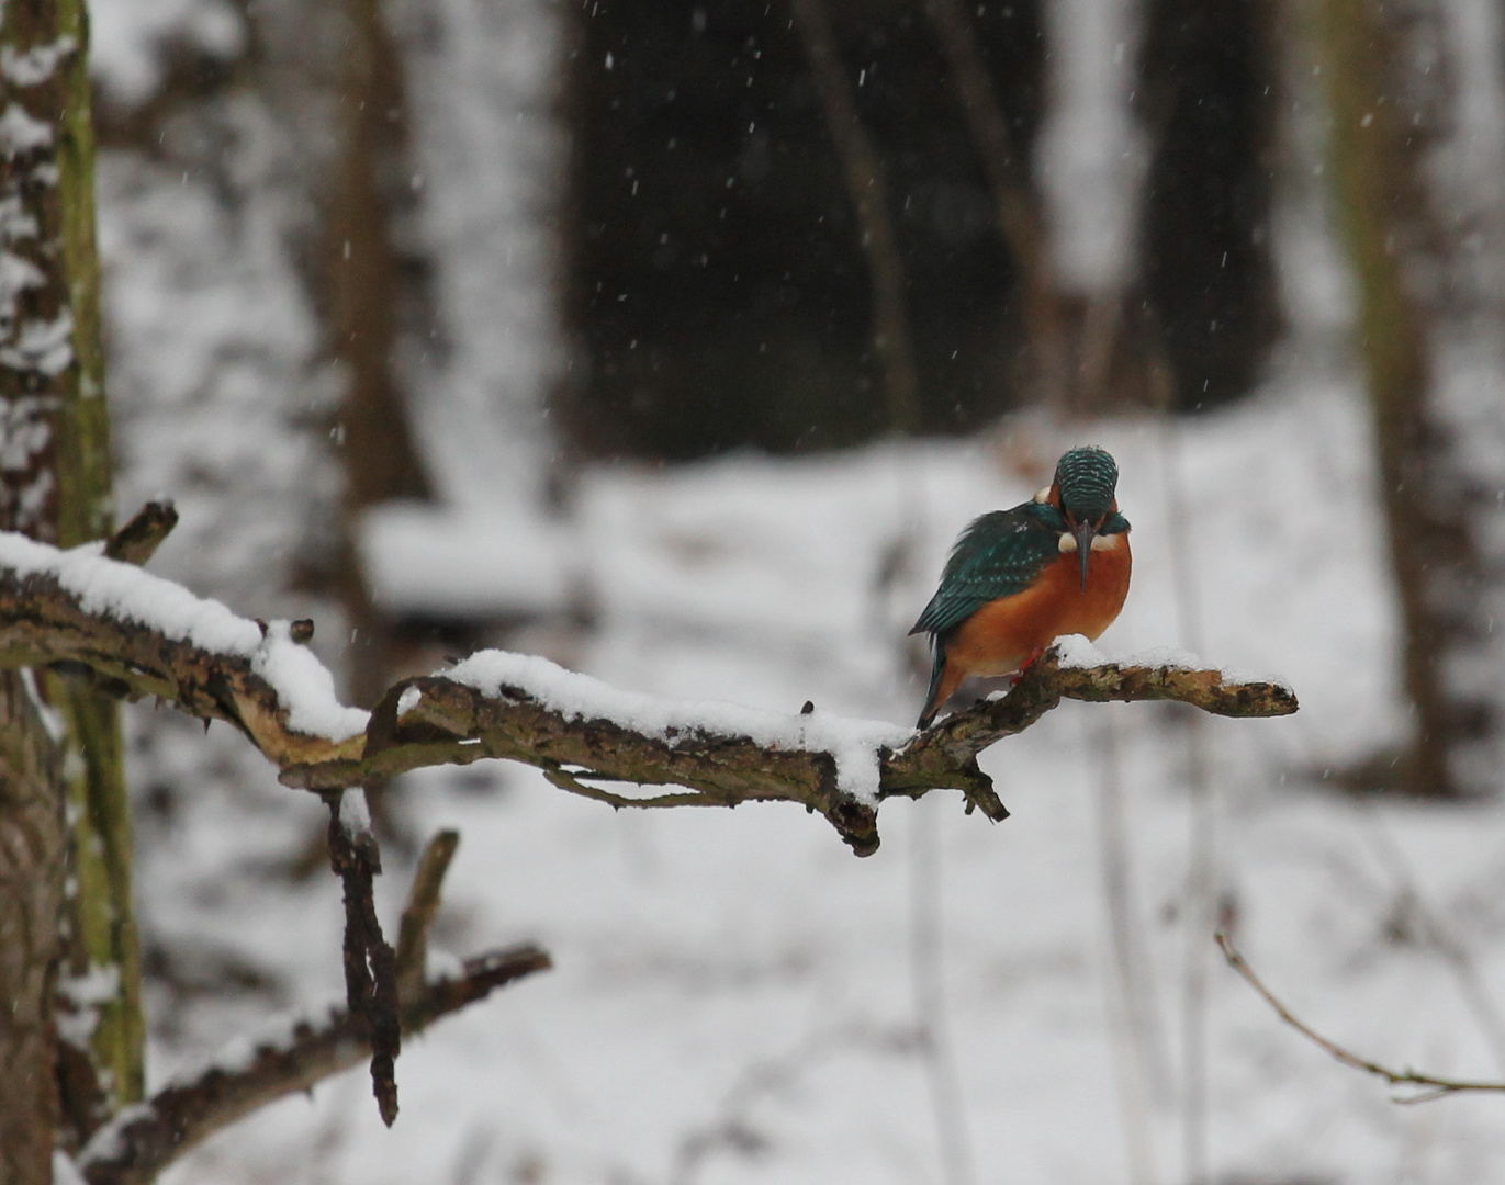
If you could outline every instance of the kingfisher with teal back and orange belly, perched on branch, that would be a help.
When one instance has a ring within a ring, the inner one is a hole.
[[[1096,445],[1073,448],[1032,499],[974,520],[957,538],[911,633],[935,654],[918,728],[968,675],[1013,675],[1052,641],[1096,641],[1129,596],[1129,520],[1118,513],[1118,465]]]

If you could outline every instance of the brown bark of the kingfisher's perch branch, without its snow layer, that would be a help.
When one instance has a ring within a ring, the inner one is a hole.
[[[45,549],[36,553],[60,556]],[[98,558],[68,559],[74,565],[114,567]],[[182,602],[188,596],[169,580],[128,571],[149,585],[152,597]],[[86,574],[93,580],[96,573],[90,567]],[[155,695],[190,714],[229,720],[278,767],[283,785],[331,791],[427,765],[506,758],[543,768],[555,785],[613,806],[793,802],[820,812],[858,854],[877,850],[876,806],[840,786],[835,759],[823,749],[762,744],[749,735],[694,723],[647,734],[619,720],[584,719],[555,708],[525,687],[504,686],[488,695],[445,677],[402,680],[370,713],[364,732],[333,740],[295,723],[301,717],[268,681],[259,654],[221,653],[191,636],[170,636],[150,624],[122,620],[110,603],[86,603],[86,594],[75,588],[50,565],[21,571],[0,562],[0,666],[87,668],[101,686],[120,695]],[[199,602],[194,612],[211,609],[220,623],[217,630],[239,626],[256,636],[251,623],[232,618],[223,606]],[[269,633],[266,645],[278,636]],[[307,675],[299,686],[309,686],[315,659],[301,648],[298,656]],[[1218,671],[1061,666],[1050,651],[1002,699],[957,713],[897,749],[879,749],[877,797],[960,789],[969,811],[995,821],[1007,818],[992,780],[978,768],[978,753],[1029,728],[1063,699],[1175,699],[1219,716],[1287,716],[1297,707],[1285,687],[1225,683]],[[325,707],[343,711],[333,701]],[[591,777],[682,789],[634,799],[582,780]]]

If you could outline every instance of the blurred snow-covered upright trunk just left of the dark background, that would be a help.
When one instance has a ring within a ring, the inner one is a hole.
[[[424,355],[403,359],[421,376],[418,427],[445,459],[447,501],[537,513],[555,450],[545,408],[564,373],[560,9],[438,0],[399,14],[439,317]]]

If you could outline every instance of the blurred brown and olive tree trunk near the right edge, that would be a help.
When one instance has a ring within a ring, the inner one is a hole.
[[[1497,392],[1460,408],[1446,397],[1439,344],[1446,335],[1448,272],[1457,268],[1437,217],[1428,150],[1446,131],[1446,62],[1428,42],[1440,11],[1373,0],[1314,0],[1312,30],[1332,114],[1332,185],[1358,281],[1358,349],[1374,409],[1380,498],[1401,606],[1404,690],[1415,734],[1394,774],[1410,794],[1497,788],[1496,695],[1460,678],[1499,662],[1487,591],[1497,583],[1475,528],[1494,490],[1469,477],[1467,418],[1499,429]],[[1458,310],[1452,310],[1455,314]],[[1493,406],[1493,415],[1488,408]],[[1461,412],[1461,415],[1458,415]],[[1497,435],[1497,432],[1496,432]],[[1481,513],[1482,511],[1482,513]],[[1481,759],[1482,758],[1482,759]]]

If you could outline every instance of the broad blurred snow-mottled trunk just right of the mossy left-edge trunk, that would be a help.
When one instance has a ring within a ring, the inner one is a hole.
[[[99,77],[116,129],[99,206],[122,501],[166,492],[178,505],[157,571],[253,614],[327,615],[315,589],[339,537],[348,371],[325,350],[315,293],[318,186],[340,147],[340,6],[266,0],[214,21],[197,5],[99,8],[116,36]],[[163,44],[211,59],[199,35],[224,21],[224,74],[190,98],[132,69]],[[345,638],[328,627],[315,645]]]

